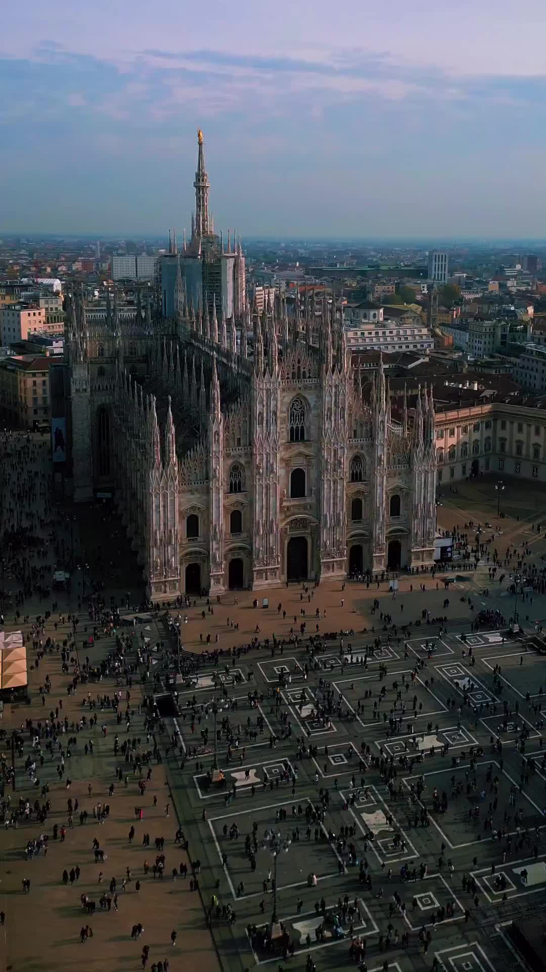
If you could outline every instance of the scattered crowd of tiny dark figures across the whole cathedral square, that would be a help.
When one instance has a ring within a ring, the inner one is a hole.
[[[218,602],[215,605],[208,598],[199,604],[179,599],[173,606],[175,612],[178,610],[177,622],[169,612],[165,620],[170,622],[171,632],[166,629],[164,640],[159,639],[154,645],[144,637],[143,631],[123,629],[122,605],[109,595],[102,577],[89,578],[86,594],[83,585],[69,591],[59,608],[61,596],[52,593],[53,568],[57,562],[66,561],[72,540],[69,543],[66,514],[51,503],[51,472],[43,462],[43,450],[49,449],[49,442],[29,435],[4,434],[1,449],[4,463],[2,620],[9,611],[10,618],[13,617],[23,632],[29,665],[33,667],[33,709],[12,738],[7,739],[5,730],[0,733],[3,736],[0,767],[5,785],[0,810],[6,830],[20,829],[20,854],[28,869],[22,880],[23,891],[32,897],[32,867],[37,858],[50,855],[49,859],[56,859],[53,870],[56,866],[59,884],[66,887],[67,893],[74,888],[75,916],[80,914],[79,909],[85,912],[85,923],[81,924],[78,938],[86,949],[91,943],[96,948],[101,938],[97,922],[103,920],[102,916],[119,913],[126,896],[141,894],[145,882],[155,881],[157,887],[167,882],[175,886],[179,886],[177,882],[185,882],[190,893],[203,894],[201,862],[193,853],[193,838],[190,851],[182,826],[175,820],[170,822],[170,800],[158,800],[155,792],[163,762],[175,772],[186,773],[190,769],[198,780],[203,778],[207,795],[212,795],[218,784],[225,806],[233,807],[231,825],[226,822],[215,834],[221,854],[219,877],[210,900],[208,895],[203,896],[204,920],[213,929],[219,923],[233,926],[237,921],[243,927],[248,893],[257,894],[259,916],[268,914],[268,895],[273,895],[275,900],[277,897],[277,870],[276,866],[273,873],[269,866],[263,870],[264,858],[259,851],[270,849],[280,834],[287,847],[291,847],[289,860],[293,859],[296,845],[302,850],[306,844],[315,846],[319,853],[333,851],[339,877],[348,891],[329,905],[324,897],[310,905],[308,910],[317,920],[313,933],[309,931],[304,936],[304,948],[309,952],[307,972],[316,972],[311,948],[326,940],[346,939],[348,959],[360,972],[365,972],[366,955],[370,952],[376,959],[381,955],[380,961],[387,969],[396,950],[420,949],[427,955],[432,934],[444,920],[461,918],[468,922],[473,915],[479,915],[483,892],[471,871],[481,864],[482,853],[479,858],[478,854],[469,857],[467,866],[462,867],[461,861],[450,855],[442,841],[437,872],[445,872],[449,886],[457,888],[457,893],[461,890],[466,894],[468,903],[461,912],[454,890],[415,933],[408,930],[407,921],[404,923],[410,915],[417,920],[416,888],[422,892],[427,889],[427,864],[405,861],[393,870],[389,858],[403,856],[410,839],[408,835],[413,836],[415,831],[425,834],[434,821],[441,823],[448,818],[457,821],[457,825],[470,831],[476,846],[478,841],[491,841],[486,854],[488,867],[493,856],[492,876],[498,882],[501,900],[507,899],[505,877],[503,873],[496,875],[496,867],[515,860],[517,855],[536,860],[542,849],[542,816],[546,811],[535,813],[533,805],[525,799],[536,773],[544,770],[546,760],[544,756],[537,765],[526,751],[529,725],[535,738],[543,725],[541,705],[528,693],[514,707],[504,701],[502,712],[498,703],[497,712],[496,704],[476,701],[477,686],[472,678],[461,684],[454,682],[444,709],[453,714],[461,733],[472,724],[476,727],[481,717],[498,715],[497,729],[490,737],[492,759],[489,762],[480,762],[484,755],[482,746],[468,744],[465,750],[458,749],[454,754],[450,738],[442,737],[442,729],[435,720],[428,720],[426,731],[422,730],[427,719],[427,703],[435,699],[438,691],[429,666],[436,636],[428,634],[426,647],[419,656],[410,649],[408,639],[412,628],[422,624],[428,625],[428,631],[430,625],[438,625],[441,635],[447,615],[432,616],[425,608],[413,625],[410,620],[396,621],[394,610],[401,614],[404,602],[398,595],[395,607],[392,605],[396,601],[396,591],[392,589],[387,594],[389,605],[386,601],[381,603],[379,597],[374,598],[370,607],[374,619],[371,630],[356,633],[356,626],[349,621],[346,630],[321,631],[321,624],[327,620],[326,611],[324,606],[315,607],[316,588],[309,590],[304,585],[299,597],[299,617],[291,614],[293,599],[285,604],[283,600],[279,602],[278,617],[285,621],[289,613],[293,616],[287,638],[273,635],[258,639],[258,623],[255,637],[245,644],[229,648],[211,645],[202,655],[184,652],[181,657],[180,634],[185,619],[180,609],[200,611],[205,628],[215,608],[218,617],[225,613],[225,606]],[[471,553],[469,534],[454,528],[454,538],[461,544],[463,554]],[[508,546],[503,555],[496,548],[490,552],[487,544],[478,550],[487,563],[492,584],[496,573],[502,570],[509,573],[517,565],[533,590],[544,592],[546,568],[532,562],[527,541],[521,549]],[[472,557],[473,554],[468,559]],[[420,577],[421,573],[426,572],[420,572]],[[434,572],[427,573],[427,580],[438,586]],[[389,579],[387,575],[384,578]],[[501,573],[499,580],[504,579]],[[364,577],[362,582],[369,587],[372,578]],[[381,578],[373,578],[373,583],[377,583],[379,590]],[[420,588],[423,593],[422,582]],[[412,593],[413,582],[404,593],[404,599],[409,599],[405,601],[406,606],[412,603]],[[341,608],[344,608],[343,589],[341,595]],[[526,596],[529,592],[522,592],[522,598]],[[128,603],[127,598],[125,608]],[[152,617],[161,620],[159,608],[146,607]],[[446,598],[442,610],[448,608],[449,598]],[[236,604],[229,608],[226,629],[230,633],[238,633],[236,609]],[[314,615],[316,630],[311,634],[307,631],[306,610]],[[485,609],[479,621],[485,627],[493,627],[503,621],[503,616],[495,608]],[[205,631],[203,635],[202,642],[206,644]],[[357,649],[354,642],[361,641],[362,635],[365,646]],[[104,647],[100,642],[104,642]],[[255,655],[262,660],[265,651],[271,659],[280,661],[288,645],[290,661],[280,666],[279,684],[269,686],[266,691],[256,687]],[[399,672],[399,662],[396,669],[392,667],[389,652],[394,648],[399,648],[400,654],[403,650],[404,662],[410,662],[405,671]],[[464,650],[462,643],[461,651]],[[335,658],[335,665],[332,658],[324,658],[328,652]],[[171,728],[154,703],[154,690],[163,687],[175,657],[181,664],[186,684],[180,695],[175,693],[180,720],[176,728]],[[472,665],[475,657],[471,646],[468,659]],[[201,692],[190,693],[188,688],[196,687],[195,679],[205,668],[218,672],[218,677],[212,678],[212,691],[204,699]],[[340,676],[344,678],[343,688],[337,684]],[[298,679],[300,693],[297,700],[291,696],[289,703],[286,693],[292,686],[292,677],[294,683]],[[361,681],[362,677],[366,680]],[[500,680],[498,667],[494,673],[498,697],[502,688]],[[267,708],[276,729],[264,715]],[[328,745],[318,746],[315,733],[333,731],[339,723],[351,735],[357,722],[361,743],[345,747],[344,776],[337,777],[330,772]],[[366,742],[368,730],[369,742]],[[378,730],[381,731],[379,741]],[[509,744],[504,739],[508,732]],[[423,748],[421,743],[425,742],[426,735],[437,738],[439,744],[427,742]],[[403,750],[399,749],[399,741],[403,741]],[[277,761],[275,777],[269,776],[265,769],[257,781],[254,777],[251,780],[251,770],[245,768],[249,758],[247,746],[256,743],[270,749],[285,746]],[[514,764],[517,768],[516,781],[510,785],[502,773],[507,745],[512,770]],[[244,783],[249,784],[255,815],[237,815],[237,782],[229,784],[226,774],[218,769],[218,750],[224,769],[231,764],[234,768],[241,767],[245,773]],[[100,753],[99,781],[89,779],[86,794],[73,796],[74,759],[84,759],[90,767],[91,761],[94,765],[96,752]],[[284,753],[288,753],[286,758]],[[436,756],[451,757],[449,784],[446,781],[445,785],[434,787],[427,783],[420,766],[426,756],[430,760]],[[106,767],[109,776],[105,782]],[[415,767],[418,776],[413,775]],[[410,781],[406,781],[408,774]],[[11,785],[17,796],[9,792]],[[311,797],[308,792],[302,793],[304,786],[311,788]],[[123,873],[116,875],[110,866],[108,839],[103,834],[117,813],[120,795],[127,791],[134,806],[134,823],[127,833],[127,864]],[[272,791],[286,797],[282,807],[276,810],[258,807],[256,797]],[[375,802],[374,793],[383,794],[380,799],[384,819],[376,821],[377,829],[367,822],[357,825],[358,807],[366,805],[368,799],[370,803]],[[269,815],[265,831],[264,815]],[[202,811],[201,819],[206,824],[207,809]],[[89,832],[85,860],[73,860],[69,855],[72,831],[79,828]],[[386,837],[378,851],[380,832]],[[200,839],[211,842],[204,826]],[[151,845],[154,852],[149,851]],[[270,855],[268,860],[271,861]],[[89,868],[96,868],[93,881],[88,877]],[[84,880],[85,889],[81,890]],[[90,885],[95,883],[93,890]],[[228,900],[229,884],[234,888],[235,907]],[[311,889],[317,887],[316,874],[308,874],[303,884]],[[250,892],[249,888],[255,885],[257,891]],[[362,895],[376,902],[374,912],[381,923],[377,941],[361,931]],[[298,889],[294,906],[297,915],[303,905]],[[9,922],[9,914],[2,912],[1,915],[2,922]],[[146,940],[152,923],[149,914],[140,915],[139,920],[127,927],[128,941]],[[289,961],[299,951],[301,941],[293,933],[290,920],[276,923],[279,929],[264,917],[256,922],[245,921],[244,927],[251,945],[260,955],[278,955],[279,960]],[[173,928],[170,942],[164,944],[176,949],[177,939],[178,929]],[[141,962],[143,968],[152,962],[152,972],[169,970],[169,958],[162,951],[156,957],[147,944],[142,947]],[[435,962],[437,966],[434,958],[432,968]]]

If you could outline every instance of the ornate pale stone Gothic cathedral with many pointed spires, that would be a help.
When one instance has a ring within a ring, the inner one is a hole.
[[[208,184],[193,227],[210,232]],[[175,311],[90,329],[75,297],[67,315],[74,497],[114,492],[151,600],[432,563],[427,391],[394,418],[383,364],[362,387],[334,300],[318,344],[311,304],[226,317],[181,269]]]

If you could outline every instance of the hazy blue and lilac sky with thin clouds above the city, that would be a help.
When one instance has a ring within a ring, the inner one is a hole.
[[[67,0],[0,35],[0,233],[546,237],[546,4]]]

